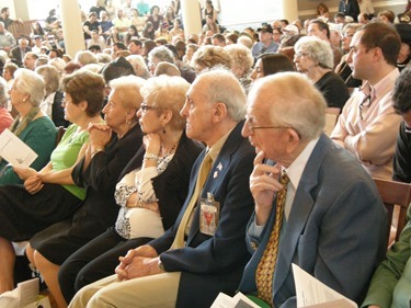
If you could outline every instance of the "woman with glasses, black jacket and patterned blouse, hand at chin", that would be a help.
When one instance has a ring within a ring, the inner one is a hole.
[[[141,89],[145,103],[137,116],[147,135],[117,183],[117,221],[61,265],[59,283],[67,303],[81,287],[112,275],[118,256],[162,236],[174,224],[189,192],[191,169],[203,149],[185,136],[180,115],[189,87],[182,78],[161,77]]]

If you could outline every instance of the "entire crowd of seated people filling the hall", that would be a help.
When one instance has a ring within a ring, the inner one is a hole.
[[[0,20],[0,128],[38,155],[0,160],[0,294],[19,242],[59,308],[296,307],[295,261],[358,306],[407,307],[410,227],[387,251],[373,178],[410,183],[411,24],[341,1],[227,31],[204,1],[185,37],[179,0],[105,2],[73,57],[55,10],[14,41]]]

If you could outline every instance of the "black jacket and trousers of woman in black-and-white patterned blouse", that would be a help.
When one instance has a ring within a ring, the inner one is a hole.
[[[167,169],[152,179],[164,230],[174,224],[184,204],[189,191],[190,172],[203,148],[202,145],[183,134]],[[144,153],[145,149],[140,147],[123,170],[119,180],[141,167]],[[62,263],[59,271],[59,284],[66,300],[70,301],[76,292],[83,286],[113,274],[115,266],[118,265],[118,256],[125,255],[129,249],[135,249],[150,240],[151,238],[124,239],[112,227],[76,251]]]

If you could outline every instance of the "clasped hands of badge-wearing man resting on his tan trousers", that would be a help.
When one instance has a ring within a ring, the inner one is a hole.
[[[148,246],[129,250],[125,256],[119,256],[115,269],[119,281],[128,281],[163,273],[158,266],[159,256],[156,250]]]

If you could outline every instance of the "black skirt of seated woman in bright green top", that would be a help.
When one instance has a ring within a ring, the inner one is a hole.
[[[24,241],[70,217],[81,199],[58,184],[45,184],[36,194],[22,185],[0,186],[0,237]]]

